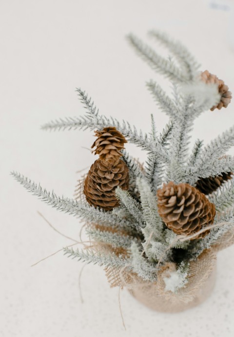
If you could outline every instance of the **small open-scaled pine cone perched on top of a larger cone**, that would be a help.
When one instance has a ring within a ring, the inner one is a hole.
[[[91,148],[96,146],[95,155],[99,155],[101,160],[111,162],[122,156],[120,150],[124,148],[127,140],[115,127],[110,126],[101,131],[95,131],[95,136],[98,139]]]

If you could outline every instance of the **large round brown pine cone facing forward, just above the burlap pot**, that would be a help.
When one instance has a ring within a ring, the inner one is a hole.
[[[215,205],[195,187],[173,181],[157,191],[158,214],[176,234],[193,235],[215,218]],[[204,238],[210,230],[196,238]]]

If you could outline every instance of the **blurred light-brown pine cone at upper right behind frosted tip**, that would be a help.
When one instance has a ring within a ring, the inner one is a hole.
[[[213,75],[209,73],[208,70],[203,71],[201,73],[201,79],[205,83],[215,83],[218,86],[218,92],[221,95],[221,99],[217,105],[214,105],[211,108],[211,111],[215,110],[216,108],[220,110],[221,108],[226,108],[228,104],[231,102],[232,99],[232,93],[229,91],[228,86],[224,84],[224,81],[222,79],[218,79],[216,75]]]

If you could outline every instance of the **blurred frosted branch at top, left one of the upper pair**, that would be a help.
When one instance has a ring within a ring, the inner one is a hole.
[[[187,74],[177,68],[170,60],[158,55],[150,46],[133,34],[130,34],[127,38],[137,51],[137,54],[146,61],[151,68],[156,70],[157,73],[163,74],[165,77],[177,82],[183,82],[189,79]]]

